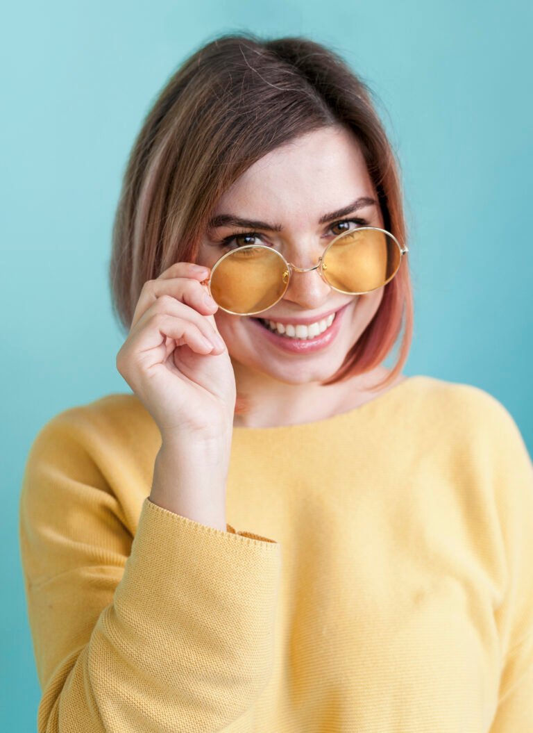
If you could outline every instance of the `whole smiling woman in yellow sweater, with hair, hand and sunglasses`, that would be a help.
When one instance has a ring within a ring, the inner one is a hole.
[[[531,461],[490,394],[401,373],[408,251],[332,51],[226,35],[170,79],[113,232],[133,394],[26,465],[40,731],[532,729]]]

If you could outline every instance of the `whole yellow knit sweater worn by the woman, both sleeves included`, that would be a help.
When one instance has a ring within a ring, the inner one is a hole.
[[[160,443],[110,394],[31,446],[40,733],[533,731],[533,468],[495,397],[418,375],[235,428],[228,531],[149,501]]]

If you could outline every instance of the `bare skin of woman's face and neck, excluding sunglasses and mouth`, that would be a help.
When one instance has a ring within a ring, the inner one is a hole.
[[[250,166],[221,197],[215,215],[231,213],[282,224],[281,232],[256,230],[259,239],[242,236],[237,243],[274,246],[288,262],[309,268],[316,265],[333,237],[364,226],[338,224],[339,219],[318,224],[324,213],[338,210],[359,196],[377,199],[356,137],[344,128],[323,128],[269,152]],[[366,206],[343,218],[364,218],[366,226],[384,228],[379,205]],[[223,226],[204,232],[198,264],[211,268],[223,254],[215,244],[217,240],[246,231]],[[250,402],[247,413],[235,416],[234,427],[275,427],[325,419],[357,408],[403,381],[406,377],[399,375],[385,390],[370,392],[368,386],[390,371],[380,366],[342,383],[319,384],[343,363],[378,310],[383,292],[382,287],[366,295],[344,295],[332,290],[318,270],[294,272],[283,298],[261,317],[277,320],[319,315],[349,303],[332,345],[307,355],[279,350],[255,323],[250,323],[250,317],[218,309],[215,322],[228,347],[237,393]]]

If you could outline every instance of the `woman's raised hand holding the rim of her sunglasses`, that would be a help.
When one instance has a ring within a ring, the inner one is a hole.
[[[235,375],[201,281],[209,274],[176,262],[146,281],[116,368],[156,421],[164,443],[227,441]],[[217,342],[220,339],[220,344]]]

